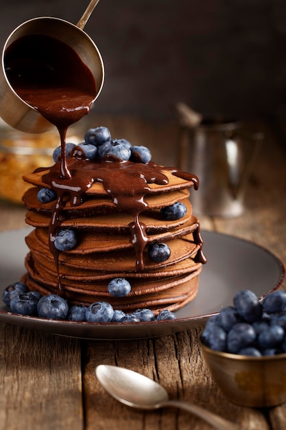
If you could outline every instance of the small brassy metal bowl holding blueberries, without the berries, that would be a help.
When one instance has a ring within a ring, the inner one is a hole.
[[[248,357],[201,345],[213,379],[228,400],[247,407],[271,407],[286,402],[286,354]]]

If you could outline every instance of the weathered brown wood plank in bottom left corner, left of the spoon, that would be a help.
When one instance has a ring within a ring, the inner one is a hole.
[[[83,430],[80,341],[0,324],[0,429]]]

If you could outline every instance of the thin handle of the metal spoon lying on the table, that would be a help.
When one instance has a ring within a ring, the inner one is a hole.
[[[191,414],[202,418],[211,424],[217,430],[241,430],[241,427],[238,427],[233,422],[214,414],[207,409],[203,409],[197,405],[190,405],[189,403],[180,402],[179,400],[167,400],[166,402],[160,403],[160,407],[178,407],[180,409],[184,409],[184,411],[191,412]]]

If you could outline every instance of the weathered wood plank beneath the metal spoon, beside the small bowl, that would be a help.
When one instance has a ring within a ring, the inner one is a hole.
[[[187,430],[208,429],[202,420],[177,409],[156,412],[133,411],[110,398],[99,385],[95,367],[106,363],[128,367],[161,383],[170,398],[180,398],[237,422],[241,429],[269,429],[263,413],[228,402],[208,372],[198,337],[200,330],[138,341],[88,342],[84,360],[86,430],[97,429]]]

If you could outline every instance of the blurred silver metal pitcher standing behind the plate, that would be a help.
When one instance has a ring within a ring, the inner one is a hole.
[[[191,191],[195,214],[233,217],[243,212],[249,174],[263,133],[243,131],[243,124],[202,117],[196,126],[181,126],[179,168],[198,176]]]

